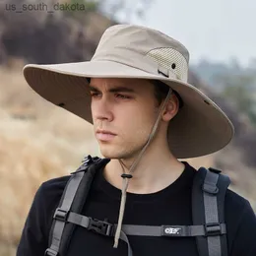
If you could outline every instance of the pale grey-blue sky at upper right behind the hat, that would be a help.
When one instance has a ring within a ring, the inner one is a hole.
[[[248,66],[256,58],[255,0],[153,0],[145,19],[129,23],[151,27],[180,40],[191,63],[202,58]],[[119,16],[122,21],[123,16]]]

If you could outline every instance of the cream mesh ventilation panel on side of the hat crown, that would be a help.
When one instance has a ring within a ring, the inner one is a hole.
[[[181,81],[187,82],[188,63],[185,57],[172,48],[153,49],[147,53],[162,67],[174,72]]]

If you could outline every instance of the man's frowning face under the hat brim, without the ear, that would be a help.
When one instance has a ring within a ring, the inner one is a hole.
[[[135,157],[147,143],[158,114],[154,86],[139,79],[94,78],[90,83],[95,133],[102,156]]]

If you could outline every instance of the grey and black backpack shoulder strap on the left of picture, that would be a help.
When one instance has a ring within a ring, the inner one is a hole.
[[[72,173],[62,194],[58,208],[53,216],[49,235],[49,248],[45,256],[64,256],[70,243],[75,225],[67,223],[70,212],[81,213],[96,170],[105,165],[109,159],[92,158],[90,155],[83,164]]]

